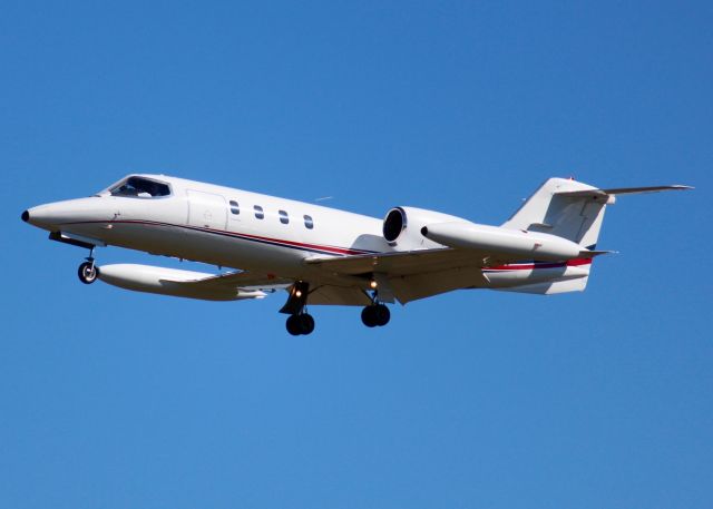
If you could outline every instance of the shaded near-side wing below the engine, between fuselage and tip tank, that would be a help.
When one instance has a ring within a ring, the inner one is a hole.
[[[330,276],[371,277],[379,280],[380,297],[390,295],[406,304],[410,301],[458,288],[485,286],[482,267],[514,262],[505,254],[473,249],[421,249],[374,255],[313,257],[305,261]],[[358,280],[364,281],[364,280]],[[354,286],[356,287],[356,286]],[[360,290],[363,294],[363,290]]]

